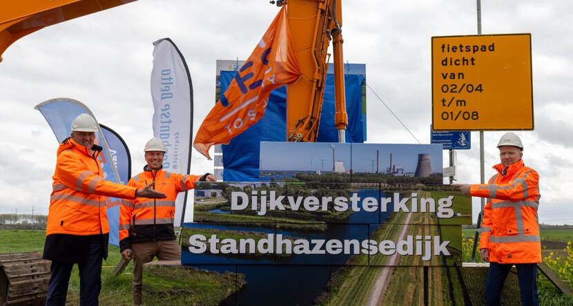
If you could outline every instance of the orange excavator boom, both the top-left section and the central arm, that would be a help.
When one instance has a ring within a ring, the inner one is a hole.
[[[1,55],[23,36],[52,24],[120,6],[135,0],[27,0],[3,1],[0,10]],[[347,126],[344,101],[341,0],[278,0],[286,5],[302,77],[287,86],[286,138],[291,142],[315,142],[324,95],[328,48],[333,41],[336,113],[334,124],[344,142]]]

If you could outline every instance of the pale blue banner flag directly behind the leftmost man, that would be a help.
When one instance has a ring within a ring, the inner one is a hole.
[[[46,102],[42,102],[35,106],[35,109],[40,111],[46,121],[52,128],[54,135],[58,142],[64,141],[67,137],[70,137],[70,133],[72,132],[72,121],[81,113],[87,113],[88,115],[92,116],[95,119],[95,116],[90,111],[90,109],[82,104],[81,102],[75,99],[68,99],[68,98],[57,98],[57,99],[50,99]],[[96,120],[97,122],[97,120]],[[101,164],[101,169],[104,171],[104,179],[115,182],[121,183],[119,179],[119,174],[115,169],[115,165],[113,162],[113,157],[110,154],[108,142],[106,141],[106,137],[101,128],[98,128],[99,131],[95,133],[96,140],[95,144],[102,146],[104,148],[103,154],[99,155],[99,163]],[[129,178],[128,178],[129,179]],[[127,179],[127,180],[128,180]],[[108,204],[108,222],[110,225],[110,241],[111,245],[119,246],[119,232],[118,232],[118,224],[119,224],[119,207],[117,205],[111,203],[119,203],[119,199],[117,198],[107,198],[106,199]]]

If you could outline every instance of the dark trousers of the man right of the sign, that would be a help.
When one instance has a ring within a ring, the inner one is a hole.
[[[489,263],[487,280],[485,281],[485,301],[488,306],[500,305],[503,283],[512,267],[513,264]],[[537,264],[521,263],[515,264],[515,267],[517,268],[517,278],[519,280],[521,305],[539,305],[536,283]]]

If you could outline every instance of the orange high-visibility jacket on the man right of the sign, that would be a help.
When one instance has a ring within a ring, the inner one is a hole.
[[[496,164],[489,184],[472,184],[470,193],[488,198],[483,209],[480,249],[489,249],[489,261],[541,262],[537,209],[539,175],[519,160],[505,169]]]

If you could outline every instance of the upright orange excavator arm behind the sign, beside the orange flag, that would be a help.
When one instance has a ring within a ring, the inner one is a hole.
[[[286,137],[289,142],[315,142],[333,42],[338,139],[344,142],[348,124],[344,98],[341,0],[286,0],[293,46],[302,77],[286,86]]]

